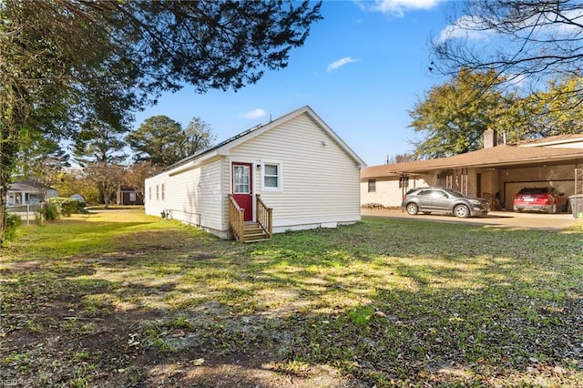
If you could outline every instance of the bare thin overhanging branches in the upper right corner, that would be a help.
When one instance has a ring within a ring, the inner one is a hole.
[[[583,3],[570,0],[466,0],[432,43],[431,69],[496,71],[506,82],[583,75]],[[578,99],[581,88],[574,90]]]

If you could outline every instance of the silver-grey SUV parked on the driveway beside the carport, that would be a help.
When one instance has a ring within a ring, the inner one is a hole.
[[[401,207],[412,216],[420,211],[424,214],[449,213],[462,219],[488,214],[486,199],[467,197],[459,191],[443,188],[409,190]]]

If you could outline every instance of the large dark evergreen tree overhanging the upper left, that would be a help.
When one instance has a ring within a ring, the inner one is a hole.
[[[238,89],[287,66],[321,4],[0,2],[0,236],[23,129],[74,133],[89,118],[128,128],[163,90]]]

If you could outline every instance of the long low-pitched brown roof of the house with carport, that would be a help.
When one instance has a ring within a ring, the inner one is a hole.
[[[583,148],[542,148],[500,145],[455,155],[449,158],[415,160],[363,168],[362,179],[425,173],[445,168],[500,168],[533,163],[552,163],[583,158]]]

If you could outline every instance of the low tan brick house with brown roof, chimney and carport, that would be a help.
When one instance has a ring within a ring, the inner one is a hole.
[[[583,192],[583,134],[518,145],[497,145],[492,129],[484,136],[485,148],[473,152],[363,168],[363,206],[400,206],[407,189],[423,186],[441,186],[486,198],[491,209],[512,209],[515,194],[524,187],[553,186],[567,196]]]

